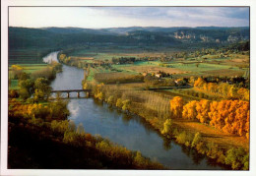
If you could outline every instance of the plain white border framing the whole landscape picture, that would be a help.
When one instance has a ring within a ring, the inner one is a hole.
[[[141,171],[141,170],[32,170],[7,169],[7,114],[8,114],[8,6],[250,6],[251,42],[251,118],[250,118],[250,171]],[[255,161],[255,62],[256,54],[256,1],[255,0],[1,0],[1,169],[0,175],[256,175]]]

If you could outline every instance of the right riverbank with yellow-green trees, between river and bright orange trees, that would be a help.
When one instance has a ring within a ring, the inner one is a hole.
[[[193,147],[199,153],[214,159],[216,163],[225,164],[232,169],[248,169],[248,140],[245,138],[176,118],[171,119],[167,125],[166,119],[170,114],[162,114],[160,109],[166,108],[164,104],[168,104],[169,99],[164,99],[156,92],[87,84],[87,87],[93,88],[96,99],[139,115],[166,138],[174,139],[185,147]]]

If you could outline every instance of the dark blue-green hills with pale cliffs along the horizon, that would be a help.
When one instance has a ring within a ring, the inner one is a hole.
[[[110,29],[9,28],[9,48],[74,45],[166,45],[186,43],[234,43],[249,39],[249,28],[160,28],[130,27]]]

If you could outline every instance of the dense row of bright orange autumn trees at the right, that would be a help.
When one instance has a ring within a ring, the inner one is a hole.
[[[170,100],[173,117],[196,120],[225,133],[249,137],[250,106],[248,101],[190,101],[183,105],[181,97]],[[181,115],[182,114],[182,115]]]

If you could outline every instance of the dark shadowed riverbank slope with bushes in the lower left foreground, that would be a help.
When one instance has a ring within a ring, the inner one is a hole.
[[[9,116],[9,169],[163,169],[67,120]]]

